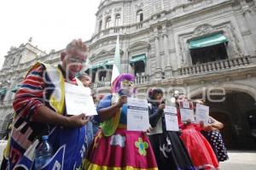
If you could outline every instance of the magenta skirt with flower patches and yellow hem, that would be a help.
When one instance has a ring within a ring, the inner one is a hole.
[[[143,132],[117,128],[106,137],[99,129],[83,165],[86,170],[157,170],[154,152]]]

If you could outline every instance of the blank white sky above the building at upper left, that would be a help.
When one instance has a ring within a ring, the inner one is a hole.
[[[47,53],[65,48],[74,38],[89,40],[95,30],[101,0],[0,1],[0,69],[11,46],[32,37],[32,45]]]

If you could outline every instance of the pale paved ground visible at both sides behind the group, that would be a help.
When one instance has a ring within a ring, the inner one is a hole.
[[[0,140],[0,160],[6,141]],[[221,170],[256,170],[256,150],[230,150],[230,160],[220,163]]]

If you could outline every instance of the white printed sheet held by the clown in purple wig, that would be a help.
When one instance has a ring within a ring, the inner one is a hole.
[[[148,101],[146,99],[127,99],[127,130],[147,131],[149,128]]]

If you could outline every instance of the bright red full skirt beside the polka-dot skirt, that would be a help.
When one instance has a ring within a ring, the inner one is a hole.
[[[218,167],[218,159],[212,150],[211,144],[195,127],[183,129],[181,139],[189,151],[189,156],[195,167],[214,169]]]

